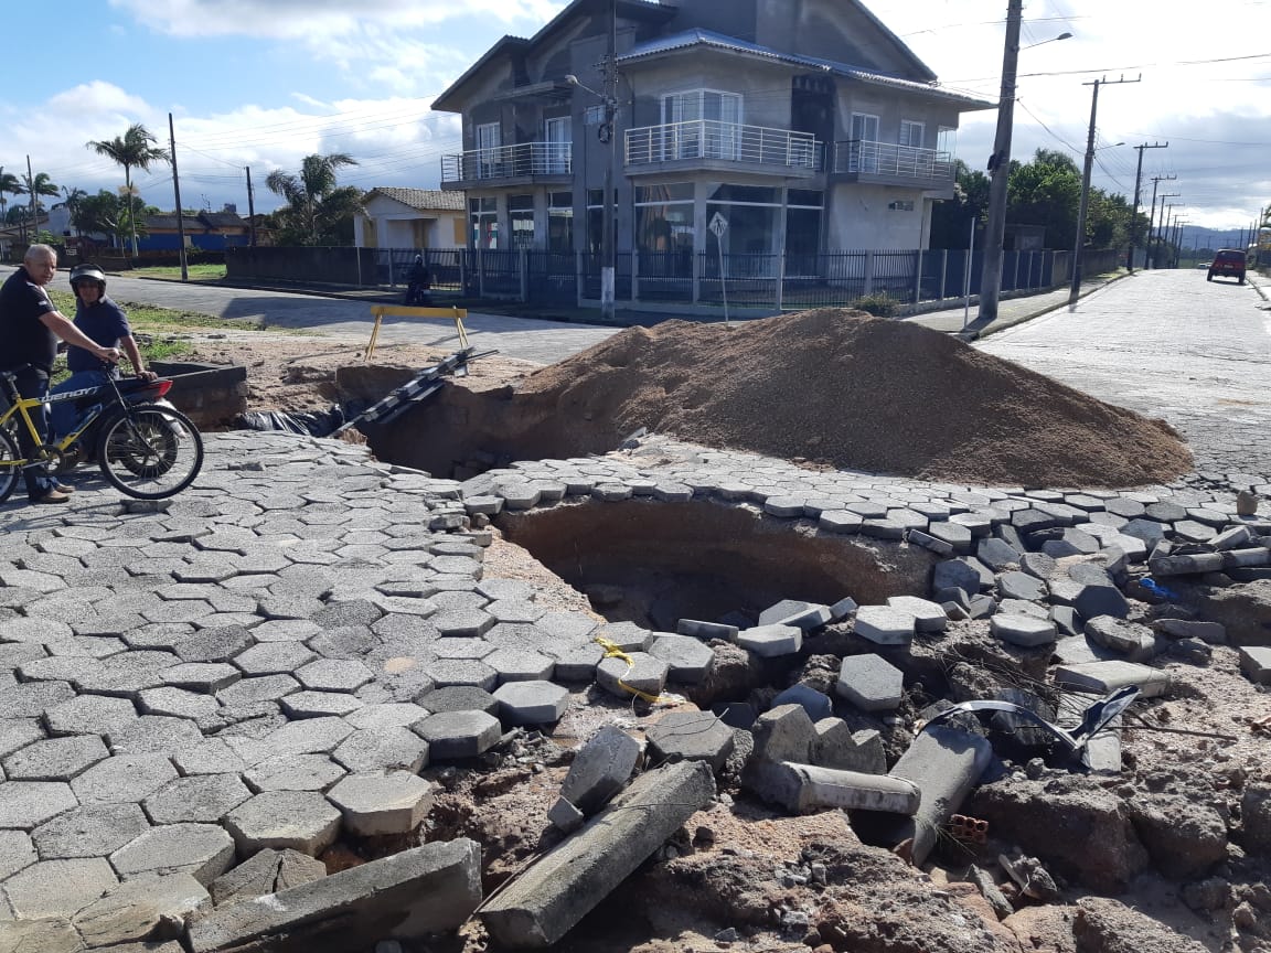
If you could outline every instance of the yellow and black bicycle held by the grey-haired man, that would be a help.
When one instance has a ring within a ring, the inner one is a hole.
[[[43,464],[64,473],[81,459],[95,459],[112,487],[137,499],[165,499],[186,489],[203,466],[203,438],[183,413],[154,403],[170,388],[169,379],[107,376],[105,384],[41,400],[20,396],[13,372],[0,371],[0,394],[9,403],[0,414],[0,503],[17,489],[25,468]],[[66,400],[79,410],[74,426],[62,437],[42,441],[31,412]],[[18,427],[27,428],[36,446],[31,459],[18,450]]]

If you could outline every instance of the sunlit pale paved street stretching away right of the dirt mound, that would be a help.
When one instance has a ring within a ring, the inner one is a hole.
[[[977,347],[1102,400],[1169,421],[1196,470],[1271,483],[1271,313],[1251,286],[1202,271],[1139,272]],[[1266,490],[1263,490],[1266,492]]]

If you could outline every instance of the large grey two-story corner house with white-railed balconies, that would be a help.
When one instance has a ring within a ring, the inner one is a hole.
[[[463,116],[441,186],[470,247],[599,252],[608,173],[620,254],[714,253],[719,212],[724,254],[805,260],[925,248],[960,113],[993,105],[857,0],[573,0],[433,103]]]

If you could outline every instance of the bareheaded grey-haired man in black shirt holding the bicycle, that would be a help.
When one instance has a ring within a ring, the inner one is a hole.
[[[119,348],[102,347],[61,314],[48,300],[44,286],[57,273],[57,253],[48,245],[32,245],[15,271],[0,286],[0,370],[11,372],[18,394],[41,398],[48,393],[48,375],[57,357],[57,338],[75,344],[112,363],[121,357]],[[44,409],[31,412],[41,440],[48,437]],[[31,459],[36,445],[25,426],[18,426],[18,446]],[[23,469],[27,497],[32,503],[65,503],[70,487],[60,487],[56,478],[41,464]]]

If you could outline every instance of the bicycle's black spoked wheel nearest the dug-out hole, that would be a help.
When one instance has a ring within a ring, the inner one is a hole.
[[[165,499],[186,489],[203,466],[203,438],[184,414],[141,407],[112,421],[98,443],[102,475],[137,499]]]

